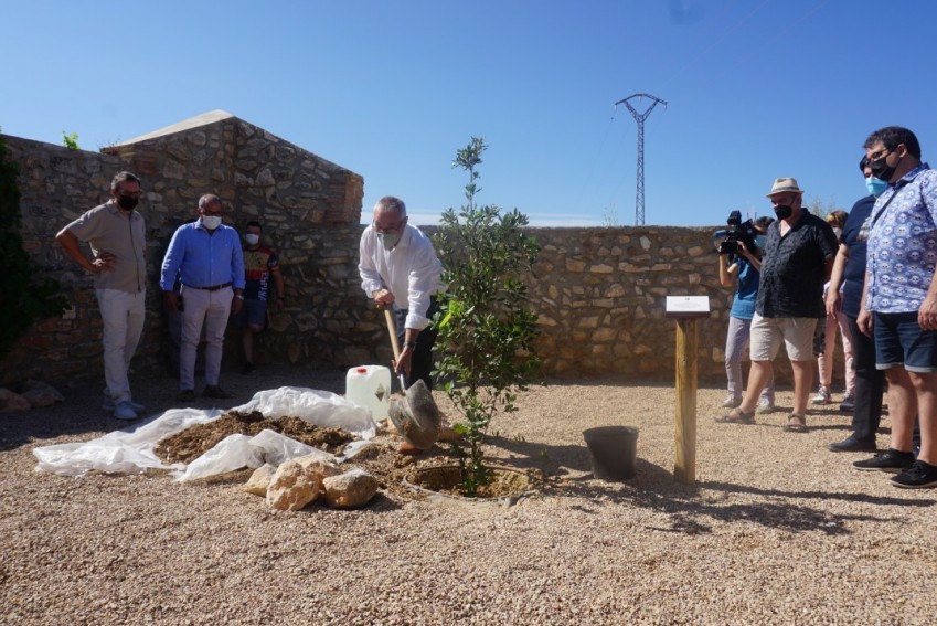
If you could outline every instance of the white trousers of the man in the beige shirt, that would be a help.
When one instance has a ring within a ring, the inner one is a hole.
[[[130,400],[130,359],[137,351],[140,333],[146,318],[147,293],[130,294],[120,289],[96,289],[97,306],[104,322],[102,341],[104,343],[104,380],[107,383],[105,394],[115,403]]]

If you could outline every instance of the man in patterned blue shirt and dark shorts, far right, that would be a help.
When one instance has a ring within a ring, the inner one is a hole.
[[[899,126],[865,140],[872,174],[890,183],[869,216],[865,297],[856,320],[875,333],[875,365],[888,381],[892,439],[858,469],[899,473],[903,488],[937,487],[937,171],[920,161],[914,132]],[[912,453],[914,416],[920,452]]]

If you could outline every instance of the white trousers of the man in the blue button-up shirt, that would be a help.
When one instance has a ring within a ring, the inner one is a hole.
[[[195,351],[205,327],[205,384],[216,385],[221,372],[224,331],[231,315],[231,287],[206,291],[182,287],[182,346],[179,352],[179,389],[195,389]]]

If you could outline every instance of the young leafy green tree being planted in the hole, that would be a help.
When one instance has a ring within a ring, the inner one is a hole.
[[[517,209],[501,213],[498,206],[476,205],[476,168],[486,148],[483,139],[472,137],[457,151],[452,167],[469,173],[468,203],[458,214],[447,210],[434,236],[448,285],[434,320],[444,354],[436,373],[464,418],[456,431],[465,443],[454,443],[452,450],[467,496],[490,479],[483,444],[491,418],[517,411],[518,392],[526,390],[541,364],[534,351],[536,316],[528,308],[523,280],[540,245],[522,231],[529,221]]]

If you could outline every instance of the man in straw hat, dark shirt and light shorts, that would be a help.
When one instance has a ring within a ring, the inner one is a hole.
[[[754,424],[762,389],[770,378],[771,361],[784,341],[794,371],[794,411],[785,431],[807,431],[807,396],[816,370],[813,330],[827,315],[823,283],[837,254],[833,230],[802,208],[803,191],[792,178],[779,178],[767,194],[777,221],[768,227],[758,300],[752,318],[748,389],[742,404],[716,422]]]

